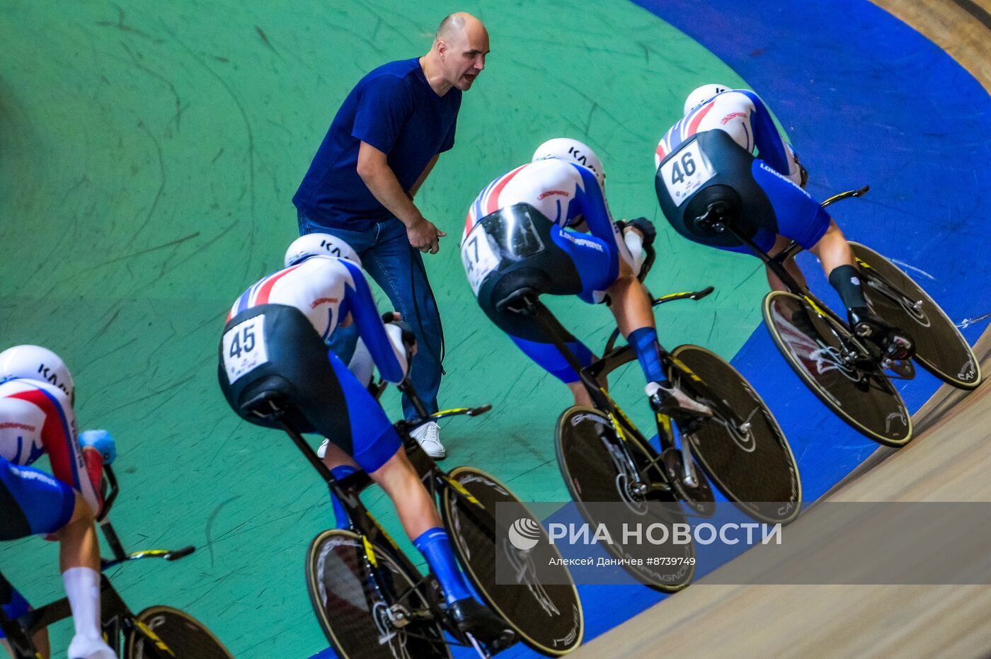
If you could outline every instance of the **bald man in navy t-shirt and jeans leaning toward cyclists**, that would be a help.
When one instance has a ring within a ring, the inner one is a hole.
[[[300,235],[324,232],[349,243],[416,335],[411,381],[428,412],[437,411],[441,325],[420,253],[437,254],[446,234],[413,196],[454,146],[461,92],[488,54],[485,26],[459,12],[441,22],[426,55],[374,69],[344,100],[292,197]],[[338,334],[331,348],[347,359],[357,334]],[[402,406],[407,419],[418,417],[405,396]],[[428,454],[445,457],[436,423],[414,435]]]

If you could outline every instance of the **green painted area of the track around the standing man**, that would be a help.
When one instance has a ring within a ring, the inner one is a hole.
[[[285,438],[227,408],[216,342],[234,298],[294,237],[289,199],[345,94],[379,63],[424,53],[452,7],[248,4],[0,2],[0,337],[60,353],[80,428],[116,436],[125,544],[199,548],[115,571],[125,599],[189,610],[238,657],[302,657],[326,645],[302,563],[329,503]],[[495,403],[445,426],[447,465],[490,470],[524,498],[563,499],[552,437],[569,395],[478,310],[457,255],[467,207],[538,143],[568,135],[606,162],[615,216],[656,220],[653,149],[685,91],[740,80],[626,2],[481,6],[457,8],[489,26],[489,68],[465,96],[455,150],[417,198],[449,233],[427,259],[447,330],[442,406]],[[757,263],[659,230],[655,292],[716,285],[659,314],[662,340],[731,356],[759,321]],[[602,345],[605,307],[551,306]],[[620,397],[638,395],[638,372],[617,380]],[[396,415],[394,394],[386,408]],[[7,543],[0,563],[31,601],[59,596],[55,545]],[[54,630],[57,652],[68,633]]]

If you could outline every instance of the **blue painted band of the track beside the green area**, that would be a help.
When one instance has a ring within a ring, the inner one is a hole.
[[[984,219],[991,207],[991,98],[949,55],[866,1],[635,4],[709,49],[761,95],[808,167],[813,196],[871,185],[864,199],[830,208],[848,238],[924,271],[910,274],[955,322],[991,311],[991,237]],[[698,84],[707,82],[720,81]],[[658,126],[658,134],[663,129]],[[800,263],[812,287],[838,304],[818,263],[808,256]],[[984,329],[979,323],[963,332],[973,343]],[[806,501],[877,448],[798,381],[763,326],[733,364],[788,435]],[[900,388],[916,410],[938,384],[920,373]],[[700,558],[697,578],[716,567]],[[663,599],[639,586],[583,586],[579,593],[586,641]],[[500,656],[538,655],[517,646]]]

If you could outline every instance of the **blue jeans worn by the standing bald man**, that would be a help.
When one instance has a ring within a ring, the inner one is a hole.
[[[346,241],[361,257],[365,272],[372,275],[385,290],[392,308],[402,314],[403,321],[416,335],[417,351],[409,381],[427,412],[436,412],[441,375],[440,312],[430,293],[430,284],[423,270],[423,257],[409,244],[405,225],[390,217],[380,222],[369,222],[363,229],[339,229],[317,224],[302,211],[297,211],[297,218],[300,236],[326,233]],[[357,343],[358,330],[352,325],[336,330],[328,346],[347,363]],[[402,413],[407,419],[419,418],[405,395],[402,396]]]

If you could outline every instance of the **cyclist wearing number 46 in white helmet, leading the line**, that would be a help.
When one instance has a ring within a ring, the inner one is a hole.
[[[703,245],[750,254],[732,235],[716,233],[698,221],[710,217],[710,211],[731,212],[742,220],[734,228],[750,234],[747,237],[772,257],[792,240],[798,242],[819,258],[854,333],[876,343],[889,357],[911,355],[912,340],[870,309],[846,238],[806,192],[809,172],[782,140],[756,93],[719,84],[693,90],[684,116],[657,145],[654,166],[657,198],[678,233]],[[805,284],[794,259],[784,267]],[[772,288],[785,289],[769,268],[767,279]]]

